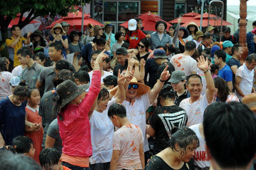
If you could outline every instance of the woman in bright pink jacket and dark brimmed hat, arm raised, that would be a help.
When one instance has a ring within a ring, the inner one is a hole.
[[[77,86],[72,80],[66,80],[57,86],[59,98],[52,108],[52,114],[58,114],[59,131],[63,141],[61,159],[63,165],[68,168],[89,169],[92,147],[88,113],[100,91],[100,68],[103,66],[102,60],[108,57],[104,52],[105,50],[95,60],[92,85],[82,102],[80,94],[89,84]]]

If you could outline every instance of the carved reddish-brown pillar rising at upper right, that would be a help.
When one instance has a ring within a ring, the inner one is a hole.
[[[239,21],[239,44],[242,46],[241,64],[245,62],[248,56],[248,48],[246,46],[246,26],[247,26],[247,2],[248,0],[240,0],[240,21]]]

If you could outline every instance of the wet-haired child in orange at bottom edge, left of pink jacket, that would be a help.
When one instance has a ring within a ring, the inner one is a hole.
[[[66,166],[61,165],[60,153],[54,148],[43,149],[39,154],[39,161],[45,170],[69,170]]]

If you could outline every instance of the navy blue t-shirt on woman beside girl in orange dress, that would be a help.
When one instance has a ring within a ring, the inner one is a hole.
[[[6,145],[11,145],[13,138],[24,136],[25,102],[20,106],[14,105],[7,97],[0,101],[0,131]]]

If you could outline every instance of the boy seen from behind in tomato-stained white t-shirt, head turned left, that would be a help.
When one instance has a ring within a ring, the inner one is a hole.
[[[131,124],[121,104],[109,107],[108,116],[118,129],[113,136],[110,170],[144,169],[143,135],[139,126]]]

